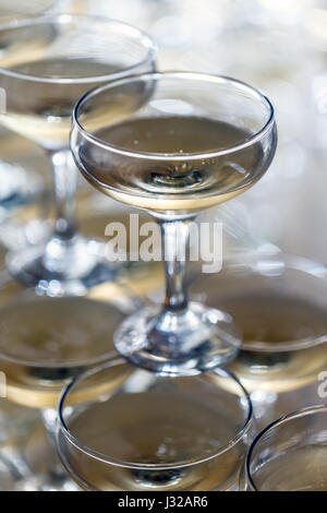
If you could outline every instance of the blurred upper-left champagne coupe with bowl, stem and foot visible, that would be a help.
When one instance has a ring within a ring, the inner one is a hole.
[[[96,16],[46,15],[0,27],[0,122],[36,141],[51,159],[56,222],[45,243],[11,254],[11,274],[55,294],[83,294],[112,277],[104,244],[76,231],[76,172],[69,152],[73,106],[86,91],[154,70],[155,47],[138,29]],[[58,284],[60,287],[58,287]]]

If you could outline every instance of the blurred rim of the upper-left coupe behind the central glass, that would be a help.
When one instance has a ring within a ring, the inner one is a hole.
[[[48,83],[48,84],[93,84],[94,82],[108,82],[109,80],[119,80],[129,76],[130,74],[133,74],[135,70],[137,70],[140,67],[144,65],[146,62],[155,60],[155,56],[157,52],[157,45],[156,43],[152,39],[149,35],[147,35],[145,32],[141,31],[140,28],[122,22],[120,20],[114,20],[111,17],[101,17],[97,15],[87,15],[87,14],[69,14],[69,13],[53,13],[53,14],[44,14],[39,16],[29,16],[29,17],[24,17],[24,19],[17,19],[13,20],[7,23],[1,23],[0,24],[0,35],[2,31],[9,31],[9,29],[14,29],[14,28],[20,28],[20,27],[28,27],[33,25],[41,25],[45,23],[58,23],[58,24],[64,24],[69,23],[72,20],[84,20],[88,23],[96,22],[100,24],[108,24],[116,26],[117,28],[122,28],[128,32],[131,35],[135,35],[138,37],[140,41],[142,41],[142,45],[144,46],[145,49],[147,49],[147,53],[145,58],[136,62],[135,64],[125,67],[121,69],[120,71],[107,73],[104,75],[96,75],[96,76],[82,76],[81,79],[70,79],[70,77],[50,77],[50,76],[38,76],[38,75],[33,75],[33,74],[25,74],[25,73],[20,73],[16,71],[12,71],[11,69],[2,68],[0,64],[0,74],[11,76],[13,79],[20,79],[20,80],[26,80],[29,82],[37,82],[37,83]]]

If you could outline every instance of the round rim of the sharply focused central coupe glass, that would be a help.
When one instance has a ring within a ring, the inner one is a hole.
[[[81,124],[78,120],[78,117],[80,117],[78,109],[83,105],[84,102],[112,87],[124,85],[125,83],[136,82],[140,80],[149,80],[149,79],[159,80],[160,77],[165,77],[165,76],[177,77],[179,80],[183,79],[183,80],[198,80],[203,82],[216,82],[217,84],[232,83],[234,86],[239,86],[242,90],[250,91],[254,96],[256,96],[257,99],[259,99],[261,102],[264,102],[264,104],[268,108],[267,109],[269,112],[268,119],[263,124],[263,127],[259,130],[257,130],[253,135],[244,140],[243,142],[235,144],[234,146],[227,147],[223,150],[209,151],[205,153],[183,153],[183,154],[180,154],[180,153],[165,153],[164,154],[164,153],[136,152],[136,151],[124,150],[122,147],[114,146],[108,142],[102,141],[100,138],[97,138],[96,135],[89,133]],[[76,127],[77,130],[83,134],[83,136],[86,140],[117,155],[123,155],[123,156],[132,157],[132,158],[142,158],[144,160],[184,162],[184,160],[199,160],[204,158],[215,158],[221,155],[235,153],[240,150],[244,150],[249,146],[252,146],[256,142],[261,141],[266,135],[266,133],[268,133],[269,130],[274,127],[275,110],[269,98],[265,96],[258,88],[250,84],[246,84],[246,82],[240,81],[238,79],[227,76],[227,75],[210,74],[210,73],[194,72],[194,71],[161,71],[161,72],[153,72],[153,73],[142,73],[136,76],[126,76],[124,79],[114,80],[110,82],[109,84],[98,86],[92,91],[88,91],[75,104],[73,116],[72,116],[72,122],[73,122],[73,129],[74,127]]]

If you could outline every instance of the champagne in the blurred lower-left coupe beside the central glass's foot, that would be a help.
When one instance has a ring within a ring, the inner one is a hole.
[[[123,318],[109,303],[80,297],[28,298],[2,307],[0,370],[8,398],[35,408],[56,407],[63,385],[76,372],[114,353],[112,335]],[[75,399],[108,386],[93,383]]]

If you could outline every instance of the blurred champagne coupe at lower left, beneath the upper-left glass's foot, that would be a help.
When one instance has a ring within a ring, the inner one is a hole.
[[[82,297],[38,296],[14,279],[1,288],[0,371],[5,377],[5,402],[16,409],[21,406],[25,418],[29,408],[35,419],[17,443],[14,439],[9,455],[11,468],[22,467],[17,486],[71,489],[55,448],[59,395],[78,372],[116,354],[113,332],[134,310],[134,298],[111,282]],[[11,410],[8,416],[10,427]],[[0,457],[7,454],[2,449]]]

